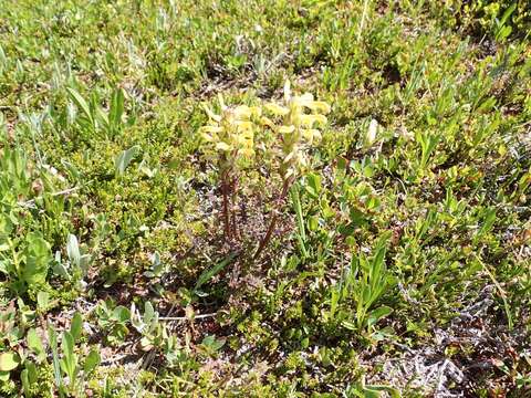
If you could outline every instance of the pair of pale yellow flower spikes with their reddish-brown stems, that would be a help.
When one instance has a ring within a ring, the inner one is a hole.
[[[321,138],[319,127],[326,123],[324,114],[330,112],[330,105],[315,101],[310,93],[292,95],[290,82],[284,85],[281,103],[227,106],[221,95],[218,95],[218,101],[219,114],[205,105],[209,121],[199,132],[207,147],[214,149],[218,160],[225,234],[227,241],[232,242],[239,235],[236,200],[240,160],[252,161],[257,148],[269,151],[279,160],[278,171],[283,182],[278,198],[280,205],[291,184],[304,171],[308,163],[305,153]],[[256,143],[256,133],[267,130],[273,133],[273,144]],[[254,258],[269,242],[275,220],[277,212]]]

